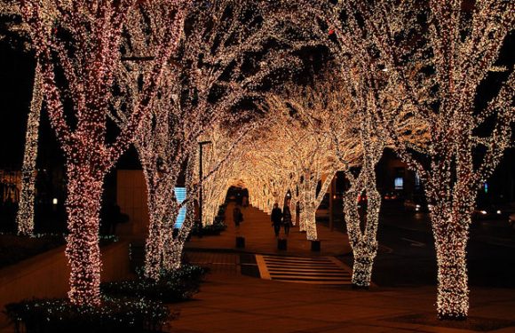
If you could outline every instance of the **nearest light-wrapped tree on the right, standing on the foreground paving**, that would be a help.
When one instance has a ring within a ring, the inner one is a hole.
[[[464,319],[469,308],[466,245],[471,212],[479,187],[511,145],[515,74],[512,67],[499,73],[495,64],[515,23],[515,3],[485,1],[472,9],[461,2],[430,1],[425,8],[430,20],[424,22],[429,33],[419,34],[420,44],[427,50],[424,59],[391,44],[392,36],[378,32],[392,29],[388,14],[398,7],[387,2],[384,8],[385,14],[379,17],[371,16],[366,7],[361,12],[368,18],[367,28],[374,32],[385,66],[392,68],[392,77],[402,87],[399,98],[411,104],[413,112],[432,128],[424,158],[399,142],[395,110],[380,115],[390,125],[389,134],[400,157],[423,179],[432,204],[439,317]],[[414,7],[412,12],[416,10]],[[408,59],[408,66],[401,65],[400,59]],[[431,68],[430,74],[424,67],[416,67],[423,61]],[[405,79],[418,68],[416,77]],[[477,96],[485,96],[482,83],[492,79],[497,79],[497,93],[486,103],[477,102]],[[425,163],[427,157],[431,163]]]

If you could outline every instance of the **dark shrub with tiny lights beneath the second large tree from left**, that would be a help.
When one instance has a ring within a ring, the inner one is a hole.
[[[199,291],[207,268],[184,265],[178,271],[162,272],[159,281],[147,279],[139,273],[138,279],[102,283],[103,293],[113,296],[147,297],[164,303],[177,303],[190,299]]]

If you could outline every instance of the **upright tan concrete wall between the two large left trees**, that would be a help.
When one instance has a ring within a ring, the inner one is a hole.
[[[147,184],[142,170],[117,170],[116,202],[129,222],[118,225],[116,234],[146,238],[148,230]]]

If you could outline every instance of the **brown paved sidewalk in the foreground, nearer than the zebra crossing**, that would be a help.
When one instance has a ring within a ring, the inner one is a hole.
[[[514,290],[474,289],[471,322],[456,322],[462,329],[435,320],[435,295],[435,287],[357,291],[210,274],[193,301],[170,305],[180,312],[170,331],[459,333],[483,327],[515,332]]]

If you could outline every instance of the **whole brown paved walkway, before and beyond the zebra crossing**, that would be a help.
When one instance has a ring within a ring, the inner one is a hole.
[[[232,215],[231,205],[227,212]],[[311,252],[309,242],[303,240],[305,234],[296,228],[289,236],[288,250],[276,250],[269,217],[253,208],[244,215],[240,228],[247,242],[244,250],[235,248],[237,230],[231,216],[224,234],[194,237],[187,244],[188,258],[210,263],[216,270],[194,300],[170,305],[180,312],[170,323],[171,332],[515,332],[512,289],[472,288],[469,320],[441,322],[436,320],[435,286],[354,290],[348,285],[300,284],[238,274],[238,252],[318,257],[350,251],[345,234],[331,233],[320,225],[320,253]]]

